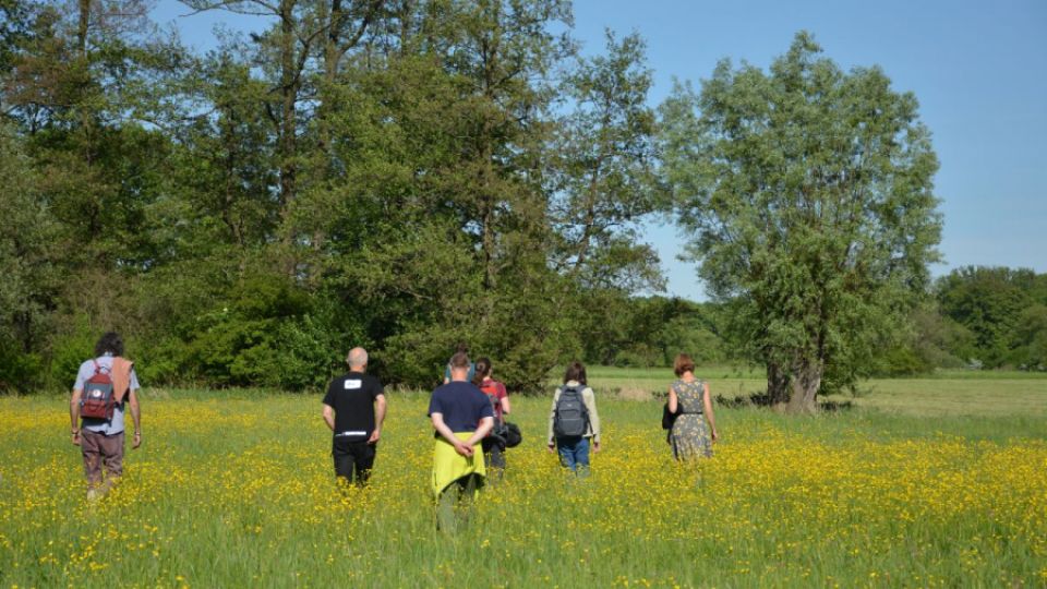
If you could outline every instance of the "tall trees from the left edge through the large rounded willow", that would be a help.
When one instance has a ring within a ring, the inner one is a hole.
[[[643,39],[582,52],[566,0],[182,4],[266,24],[201,52],[145,0],[0,0],[4,388],[68,384],[104,329],[149,384],[287,389],[352,345],[428,385],[467,341],[533,390],[717,341],[809,410],[928,300],[918,104],[807,33],[653,108]],[[711,304],[643,297],[652,216]]]

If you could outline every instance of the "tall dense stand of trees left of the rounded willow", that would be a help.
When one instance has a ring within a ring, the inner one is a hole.
[[[364,345],[431,384],[465,340],[534,388],[589,301],[660,287],[638,37],[581,58],[563,0],[183,3],[269,24],[198,55],[141,0],[0,4],[4,387],[116,328],[152,383],[316,386]]]

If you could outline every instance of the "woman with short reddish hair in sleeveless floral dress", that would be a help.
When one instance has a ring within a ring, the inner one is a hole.
[[[669,434],[673,457],[677,460],[709,458],[712,443],[719,437],[709,383],[695,378],[695,362],[686,353],[676,357],[673,370],[678,377],[669,387],[669,411],[677,413]]]

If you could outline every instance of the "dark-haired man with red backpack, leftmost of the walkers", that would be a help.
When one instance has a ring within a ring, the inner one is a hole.
[[[133,448],[142,445],[139,377],[134,362],[122,358],[123,340],[106,333],[95,345],[95,359],[80,365],[69,402],[73,445],[80,446],[87,477],[87,498],[98,498],[123,474],[124,410],[134,420]],[[103,482],[101,468],[106,480]]]

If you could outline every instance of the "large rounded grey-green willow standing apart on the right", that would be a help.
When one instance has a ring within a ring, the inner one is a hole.
[[[770,71],[723,61],[662,106],[688,251],[771,401],[794,411],[869,368],[923,292],[941,227],[916,98],[820,52],[801,33]]]

